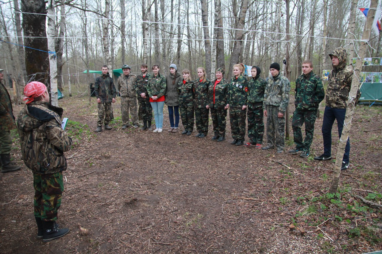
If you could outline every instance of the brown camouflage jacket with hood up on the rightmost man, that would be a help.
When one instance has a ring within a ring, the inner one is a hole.
[[[354,72],[346,66],[347,55],[344,48],[336,48],[329,56],[337,56],[339,64],[333,66],[328,77],[326,106],[330,108],[346,108]]]

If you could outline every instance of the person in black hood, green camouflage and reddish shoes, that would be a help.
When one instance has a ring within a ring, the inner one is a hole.
[[[252,66],[252,79],[248,83],[247,97],[247,121],[249,142],[244,146],[255,146],[260,149],[264,136],[264,119],[262,104],[264,101],[264,90],[267,82],[260,77],[261,70],[258,66]]]

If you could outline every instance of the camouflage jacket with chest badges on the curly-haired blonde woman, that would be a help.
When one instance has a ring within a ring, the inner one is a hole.
[[[240,75],[231,77],[230,84],[228,86],[228,104],[230,108],[242,108],[247,105],[248,96],[248,79]]]

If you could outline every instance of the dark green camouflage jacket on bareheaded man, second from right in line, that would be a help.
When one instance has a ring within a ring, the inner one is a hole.
[[[321,79],[312,71],[296,79],[295,92],[295,107],[298,110],[317,111],[318,105],[325,97]]]

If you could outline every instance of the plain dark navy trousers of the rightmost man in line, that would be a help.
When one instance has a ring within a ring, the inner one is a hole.
[[[345,122],[345,108],[330,108],[325,106],[324,120],[322,122],[322,137],[324,138],[324,155],[332,155],[332,127],[334,120],[337,119],[338,136],[341,138],[343,124]],[[343,161],[349,162],[350,140],[346,142]]]

